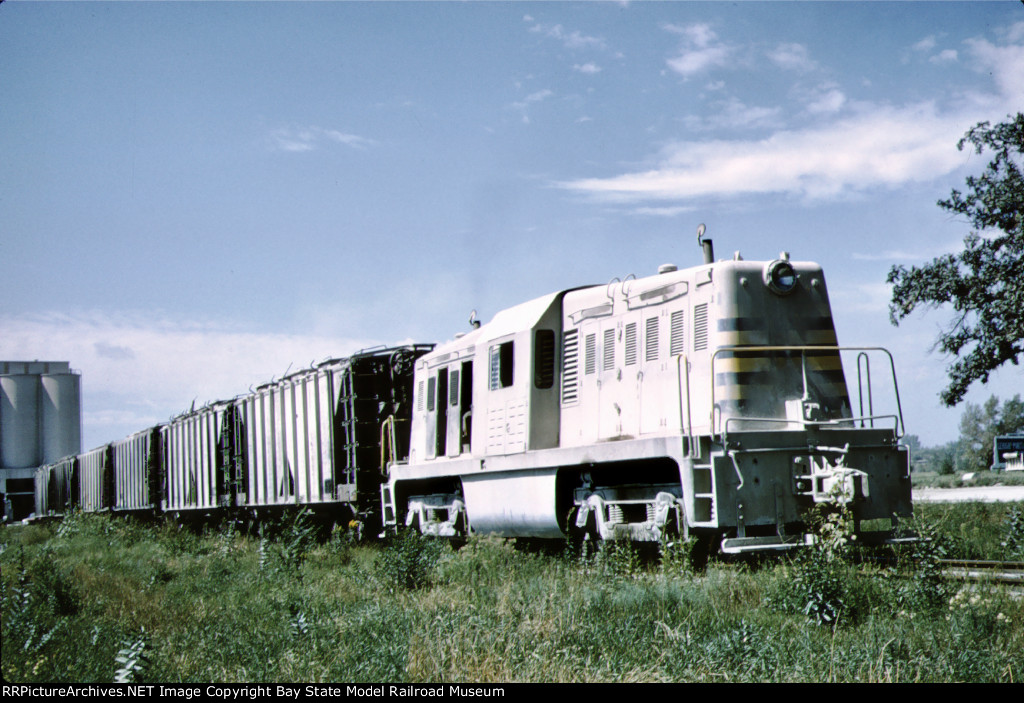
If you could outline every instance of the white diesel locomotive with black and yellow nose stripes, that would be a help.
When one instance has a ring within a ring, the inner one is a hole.
[[[894,370],[892,411],[873,411],[872,357],[892,370],[885,350],[837,346],[820,267],[784,254],[539,298],[418,359],[384,523],[693,534],[726,552],[805,542],[822,501],[846,503],[858,529],[895,527],[911,512],[909,460]]]

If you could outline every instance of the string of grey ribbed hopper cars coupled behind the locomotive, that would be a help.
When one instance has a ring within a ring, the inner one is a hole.
[[[379,527],[380,432],[411,421],[412,368],[431,345],[359,352],[210,403],[36,472],[36,516],[71,509],[260,518],[306,507]],[[404,456],[408,442],[395,442]]]

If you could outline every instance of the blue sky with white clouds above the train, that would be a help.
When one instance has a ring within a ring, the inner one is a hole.
[[[0,4],[0,359],[82,372],[83,448],[326,358],[663,263],[823,267],[958,434],[886,275],[1024,109],[1020,2]],[[848,369],[849,374],[849,369]],[[1009,366],[968,402],[1024,393]]]

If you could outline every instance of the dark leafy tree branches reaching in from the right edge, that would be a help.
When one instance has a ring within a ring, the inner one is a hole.
[[[939,201],[943,210],[967,217],[975,228],[964,251],[946,254],[924,266],[893,266],[889,304],[893,324],[918,307],[951,304],[949,326],[936,346],[957,357],[949,367],[949,385],[939,394],[946,405],[964,399],[975,381],[985,383],[1007,361],[1024,354],[1024,114],[995,127],[982,122],[956,144],[972,144],[976,153],[993,153],[980,177],[969,176],[967,192],[953,190]]]

